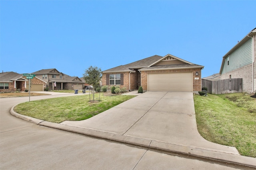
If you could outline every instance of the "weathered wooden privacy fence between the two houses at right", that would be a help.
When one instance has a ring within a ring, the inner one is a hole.
[[[242,78],[209,81],[202,79],[202,87],[207,87],[210,94],[226,94],[242,92]]]

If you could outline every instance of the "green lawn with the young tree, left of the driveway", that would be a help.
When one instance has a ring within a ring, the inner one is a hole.
[[[103,96],[103,94],[100,93],[100,102],[90,102],[89,95],[70,96],[25,102],[18,104],[14,111],[54,123],[79,121],[88,119],[135,97],[130,95]],[[95,100],[98,98],[99,94],[96,93]]]

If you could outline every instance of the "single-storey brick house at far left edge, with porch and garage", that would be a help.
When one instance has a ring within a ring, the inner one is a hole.
[[[44,80],[34,77],[30,79],[30,91],[44,91],[46,83]],[[17,89],[20,91],[29,89],[29,80],[26,79],[26,76],[16,72],[0,73],[0,92],[15,92]]]

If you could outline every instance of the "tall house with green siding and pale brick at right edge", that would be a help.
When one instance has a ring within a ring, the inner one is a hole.
[[[242,78],[243,92],[256,92],[256,28],[222,59],[220,78]]]

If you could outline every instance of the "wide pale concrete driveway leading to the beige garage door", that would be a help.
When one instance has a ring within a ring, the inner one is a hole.
[[[146,92],[90,119],[61,124],[147,139],[150,145],[160,142],[191,150],[239,154],[235,147],[206,141],[198,133],[192,92]]]

